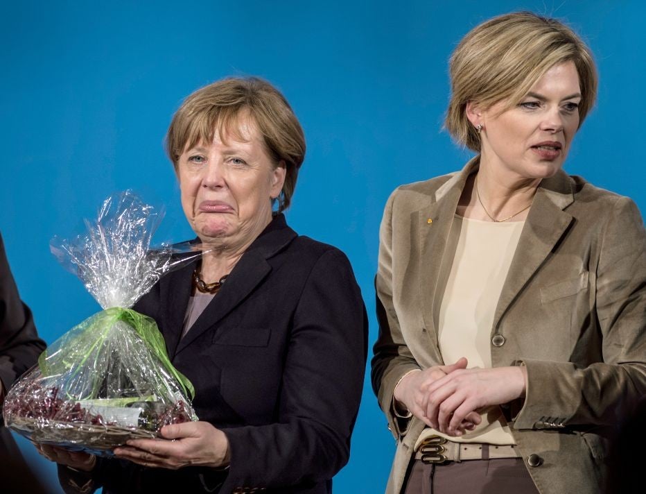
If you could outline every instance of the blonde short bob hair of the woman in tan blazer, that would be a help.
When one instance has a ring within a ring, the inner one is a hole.
[[[466,104],[473,101],[488,110],[506,101],[508,110],[545,72],[569,61],[579,74],[580,127],[597,95],[597,71],[588,46],[568,26],[532,12],[489,19],[467,33],[451,56],[451,101],[444,126],[456,142],[480,151],[480,135],[466,117]]]

